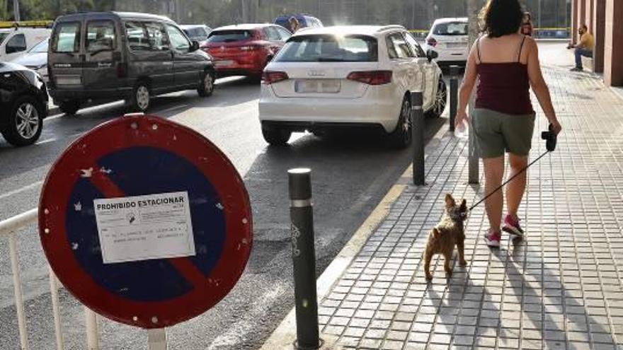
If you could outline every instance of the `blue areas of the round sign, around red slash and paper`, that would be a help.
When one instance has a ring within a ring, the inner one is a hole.
[[[225,214],[215,188],[193,163],[163,148],[131,147],[99,158],[97,166],[127,197],[187,191],[196,252],[188,259],[205,277],[210,274],[222,255]],[[81,177],[67,202],[67,240],[86,273],[105,290],[132,301],[168,301],[191,291],[193,284],[168,259],[103,263],[93,199],[107,197]]]

